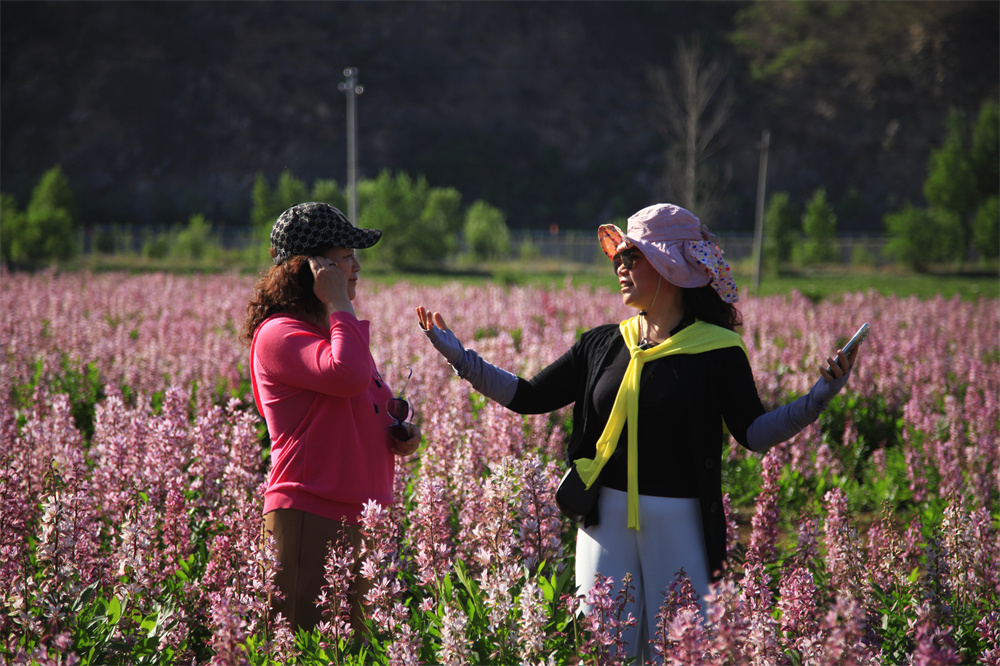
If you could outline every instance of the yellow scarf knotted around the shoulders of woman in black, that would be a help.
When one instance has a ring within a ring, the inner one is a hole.
[[[677,335],[671,336],[651,349],[640,349],[639,317],[626,319],[619,326],[625,344],[628,345],[632,358],[625,369],[625,377],[615,404],[611,408],[611,416],[604,426],[604,432],[597,440],[597,455],[590,458],[578,458],[576,469],[580,478],[589,488],[600,476],[604,465],[611,459],[611,454],[618,446],[622,427],[628,421],[628,527],[639,529],[639,462],[638,456],[638,423],[639,423],[639,378],[642,376],[642,366],[646,361],[654,361],[673,354],[700,354],[723,347],[739,347],[745,354],[746,345],[738,333],[715,326],[703,321],[696,321]]]

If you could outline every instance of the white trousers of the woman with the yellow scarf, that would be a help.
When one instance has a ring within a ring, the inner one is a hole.
[[[589,592],[600,573],[614,579],[611,594],[617,595],[624,574],[632,574],[635,603],[625,606],[622,618],[632,613],[637,623],[625,632],[624,639],[630,654],[645,661],[653,655],[648,642],[656,635],[656,614],[663,595],[682,567],[704,608],[711,580],[701,507],[697,499],[640,495],[640,529],[631,530],[626,527],[628,493],[601,488],[598,502],[600,524],[581,526],[576,534],[578,593]],[[587,605],[583,608],[590,611]]]

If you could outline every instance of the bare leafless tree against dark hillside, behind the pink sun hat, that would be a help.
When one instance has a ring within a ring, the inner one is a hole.
[[[708,158],[721,144],[735,99],[728,74],[721,59],[703,61],[697,38],[680,41],[669,71],[655,67],[648,73],[656,127],[668,143],[668,195],[703,220],[722,205],[723,179]]]

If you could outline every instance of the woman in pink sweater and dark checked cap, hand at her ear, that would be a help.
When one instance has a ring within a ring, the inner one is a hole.
[[[284,596],[273,609],[293,630],[322,619],[316,600],[328,544],[346,537],[358,552],[362,506],[393,501],[393,457],[420,444],[419,428],[387,411],[393,394],[372,358],[369,322],[352,303],[361,270],[355,249],[381,235],[329,204],[289,208],[271,230],[275,265],[247,306],[242,339],[271,437],[264,523],[277,542],[275,583]],[[350,593],[355,629],[364,591]]]

